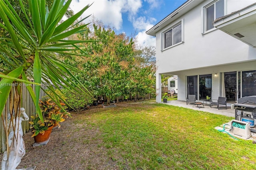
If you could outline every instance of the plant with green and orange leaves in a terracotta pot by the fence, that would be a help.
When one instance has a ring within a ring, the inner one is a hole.
[[[64,103],[60,103],[65,105]],[[34,137],[35,143],[45,142],[50,138],[50,134],[53,127],[58,126],[60,128],[60,122],[65,121],[64,117],[70,115],[70,113],[64,112],[56,103],[52,102],[51,99],[40,100],[40,109],[44,118],[44,122],[40,120],[38,115],[31,116],[32,121],[29,122],[32,129],[32,136]]]

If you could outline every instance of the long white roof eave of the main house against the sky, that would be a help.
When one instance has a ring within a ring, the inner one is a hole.
[[[182,16],[189,10],[192,10],[198,4],[202,3],[200,0],[187,0],[184,4],[182,4],[179,8],[174,10],[171,14],[166,16],[163,20],[158,22],[155,26],[146,31],[146,34],[150,36],[156,36],[156,32],[176,20],[178,17]]]

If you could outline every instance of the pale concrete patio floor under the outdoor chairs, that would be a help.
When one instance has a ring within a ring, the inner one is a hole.
[[[167,103],[164,103],[164,104],[185,107],[185,108],[194,109],[197,111],[205,111],[205,112],[215,113],[218,115],[224,115],[224,116],[228,116],[228,117],[235,117],[235,110],[231,109],[228,106],[227,106],[227,110],[224,107],[220,107],[220,110],[218,110],[217,106],[213,106],[212,108],[210,108],[209,103],[207,103],[207,105],[204,105],[204,107],[202,105],[200,105],[200,108],[199,108],[199,107],[197,107],[197,105],[194,105],[194,103],[188,103],[188,105],[187,105],[186,101],[180,101],[180,100],[167,101]]]

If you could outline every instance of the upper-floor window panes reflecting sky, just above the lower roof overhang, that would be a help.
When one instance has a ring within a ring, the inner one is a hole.
[[[214,28],[214,20],[224,16],[224,6],[224,0],[218,0],[204,7],[204,32]]]

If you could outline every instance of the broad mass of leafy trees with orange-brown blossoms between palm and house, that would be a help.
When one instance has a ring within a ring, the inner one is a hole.
[[[132,38],[125,34],[116,35],[110,27],[101,22],[92,24],[90,32],[82,32],[78,40],[94,40],[84,44],[83,51],[65,62],[72,64],[87,74],[76,74],[94,96],[106,96],[108,103],[123,95],[144,95],[152,92],[154,86],[154,49],[145,47],[135,50]],[[81,44],[82,45],[82,44]],[[153,80],[153,81],[152,81]],[[150,82],[150,83],[149,83]],[[140,87],[140,88],[138,88]]]

